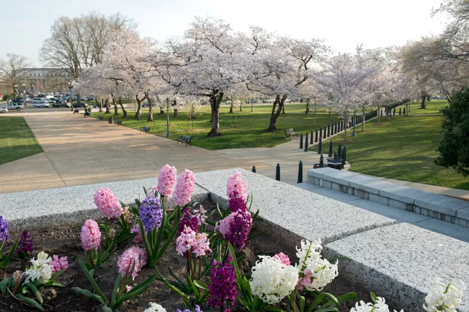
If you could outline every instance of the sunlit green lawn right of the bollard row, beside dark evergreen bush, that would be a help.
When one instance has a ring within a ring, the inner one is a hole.
[[[433,101],[431,101],[433,102]],[[437,102],[437,101],[434,101]],[[433,159],[440,140],[441,116],[409,115],[395,116],[390,120],[381,120],[365,124],[365,131],[357,132],[357,137],[348,140],[347,161],[351,170],[378,177],[418,182],[442,187],[454,187],[469,190],[469,178],[457,174],[452,169],[436,166]],[[335,141],[343,140],[339,136],[333,140],[333,150],[337,150]],[[328,144],[323,148],[327,154]],[[317,151],[317,147],[314,148]]]

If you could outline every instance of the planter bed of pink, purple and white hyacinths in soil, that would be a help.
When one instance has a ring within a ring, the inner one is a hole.
[[[81,229],[23,232],[19,242],[5,244],[0,303],[7,311],[34,311],[30,305],[106,312],[388,311],[384,299],[373,294],[373,303],[356,303],[370,301],[369,295],[337,277],[339,261],[347,260],[323,259],[319,240],[298,242],[295,249],[264,232],[240,173],[228,180],[225,212],[209,201],[190,207],[194,175],[189,170],[175,175],[173,167],[164,166],[162,185],[146,190],[147,197],[132,207],[99,188],[94,201],[107,218],[87,220]],[[178,206],[167,210],[158,191],[168,196],[174,184]],[[5,241],[3,220],[0,234]],[[428,311],[454,311],[464,287],[435,281]],[[149,309],[150,303],[163,308]]]

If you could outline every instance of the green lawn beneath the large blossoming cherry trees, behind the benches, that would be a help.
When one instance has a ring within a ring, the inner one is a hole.
[[[93,113],[93,117],[99,115],[112,116],[113,114]],[[159,136],[166,135],[166,115],[154,115],[154,122],[147,122],[148,113],[142,114],[142,120],[133,120],[135,113],[128,112],[129,118],[123,119],[115,116],[114,120],[122,119],[122,125],[139,129],[144,125],[150,126],[150,132]],[[225,135],[219,138],[208,138],[207,133],[211,129],[210,113],[198,112],[193,121],[193,130],[188,130],[187,117],[179,112],[178,118],[171,117],[170,134],[171,139],[186,134],[192,136],[192,144],[208,149],[226,149],[241,147],[272,147],[285,142],[283,130],[294,128],[295,131],[306,133],[316,129],[313,125],[312,114],[281,114],[277,120],[277,133],[265,133],[263,130],[269,125],[270,114],[239,114],[238,125],[233,126],[234,114],[220,113],[220,131]],[[317,115],[316,124],[327,125],[328,115]],[[332,121],[337,121],[337,116],[332,116]]]

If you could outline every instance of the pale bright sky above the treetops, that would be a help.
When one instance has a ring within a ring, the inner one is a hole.
[[[431,17],[441,0],[0,0],[0,58],[25,56],[42,66],[39,49],[61,16],[96,10],[121,12],[138,23],[137,31],[160,42],[179,36],[194,16],[214,16],[235,31],[258,25],[298,39],[324,38],[337,52],[357,45],[374,48],[402,45],[423,35],[438,34],[444,17]],[[9,13],[7,13],[9,12]]]

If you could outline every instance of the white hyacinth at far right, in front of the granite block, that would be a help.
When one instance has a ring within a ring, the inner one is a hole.
[[[463,281],[443,282],[439,277],[433,279],[430,292],[425,297],[424,310],[428,312],[456,312],[461,305],[466,284]]]

